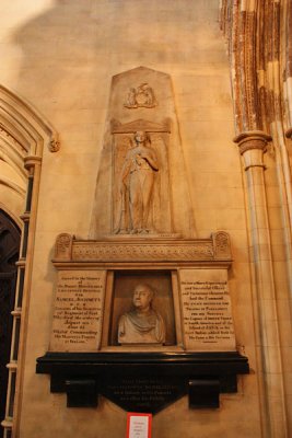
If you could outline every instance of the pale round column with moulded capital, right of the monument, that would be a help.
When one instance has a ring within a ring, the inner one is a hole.
[[[283,393],[279,379],[282,364],[264,178],[264,153],[270,140],[270,136],[259,130],[242,132],[234,139],[238,143],[246,174],[258,371],[259,376],[264,374],[259,383],[266,402],[261,406],[265,423],[262,436],[287,437],[285,408],[280,395]]]

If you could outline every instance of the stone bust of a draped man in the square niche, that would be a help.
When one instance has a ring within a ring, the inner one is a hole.
[[[124,313],[118,323],[119,344],[164,344],[165,326],[162,316],[152,309],[153,289],[147,284],[133,290],[133,310]]]

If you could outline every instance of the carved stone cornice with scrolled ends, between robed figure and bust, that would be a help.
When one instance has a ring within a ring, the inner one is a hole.
[[[57,265],[104,263],[218,263],[232,262],[230,237],[224,231],[210,239],[125,239],[84,241],[61,233],[57,237],[55,257]]]

